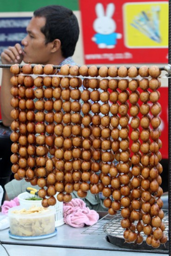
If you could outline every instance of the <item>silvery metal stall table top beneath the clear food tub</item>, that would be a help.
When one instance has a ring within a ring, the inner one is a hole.
[[[36,256],[43,256],[46,253],[56,252],[65,256],[66,253],[70,256],[150,256],[157,255],[162,256],[164,253],[158,249],[153,251],[149,250],[146,252],[133,251],[131,249],[123,249],[112,243],[107,242],[105,235],[93,235],[93,234],[82,234],[87,227],[73,228],[69,225],[62,225],[57,228],[57,235],[40,240],[17,240],[9,237],[8,230],[4,229],[0,231],[0,241],[2,245],[7,249],[10,256],[30,255],[32,252]],[[166,252],[165,252],[166,253]],[[6,256],[7,252],[0,246],[0,256]],[[57,254],[55,254],[57,255]],[[168,255],[168,254],[165,254]]]

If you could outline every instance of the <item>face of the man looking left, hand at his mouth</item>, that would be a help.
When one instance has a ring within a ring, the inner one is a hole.
[[[51,43],[45,44],[45,35],[40,31],[46,23],[45,17],[33,17],[26,30],[27,36],[22,40],[24,46],[23,61],[46,65],[49,63]]]

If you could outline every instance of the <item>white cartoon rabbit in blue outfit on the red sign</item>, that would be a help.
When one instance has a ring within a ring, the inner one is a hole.
[[[106,14],[101,3],[97,3],[95,7],[97,19],[93,22],[93,29],[97,32],[92,37],[99,48],[114,48],[117,39],[122,38],[122,34],[116,33],[116,23],[112,19],[115,11],[115,5],[110,3],[107,5]]]

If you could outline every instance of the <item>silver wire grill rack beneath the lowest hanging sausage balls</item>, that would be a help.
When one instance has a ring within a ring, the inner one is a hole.
[[[163,210],[164,211],[164,218],[163,222],[165,225],[165,230],[164,233],[168,237],[168,225],[169,225],[169,218],[168,218],[168,210]],[[85,229],[82,234],[94,234],[94,235],[112,235],[112,236],[117,236],[120,238],[123,238],[123,234],[125,229],[123,229],[120,225],[120,221],[122,220],[122,216],[120,214],[120,211],[115,216],[111,216],[107,214],[103,218],[99,219],[98,222],[96,222],[94,225],[88,227]],[[134,222],[136,225],[137,222]],[[143,236],[143,239],[146,239],[146,235],[141,232],[141,235]]]

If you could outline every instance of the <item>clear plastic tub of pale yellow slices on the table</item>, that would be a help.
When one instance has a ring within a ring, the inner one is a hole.
[[[38,211],[39,209],[39,211]],[[15,236],[43,236],[55,231],[55,210],[16,206],[8,210],[10,233]]]

